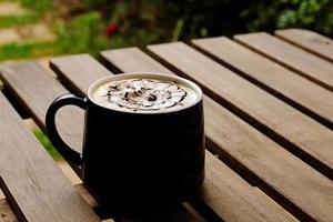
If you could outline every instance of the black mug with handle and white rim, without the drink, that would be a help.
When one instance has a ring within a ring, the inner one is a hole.
[[[195,102],[162,112],[105,108],[93,100],[107,82],[152,78],[173,81],[198,93]],[[63,105],[85,110],[82,155],[60,138],[54,117]],[[46,118],[52,144],[71,163],[82,167],[84,184],[102,203],[142,209],[182,201],[195,194],[204,179],[202,92],[193,82],[169,74],[125,73],[92,83],[85,98],[63,94]]]

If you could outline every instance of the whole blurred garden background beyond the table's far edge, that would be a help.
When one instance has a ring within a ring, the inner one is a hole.
[[[305,28],[333,37],[332,0],[0,0],[0,61]]]

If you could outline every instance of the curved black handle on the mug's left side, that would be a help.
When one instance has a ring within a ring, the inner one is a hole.
[[[81,153],[74,151],[65,142],[63,142],[56,127],[56,114],[58,110],[68,104],[77,105],[84,110],[87,108],[87,99],[79,98],[72,93],[67,93],[57,98],[49,107],[47,112],[47,117],[46,117],[47,133],[49,135],[51,143],[57,148],[57,150],[60,152],[61,155],[63,155],[64,159],[67,159],[71,163],[81,165],[82,164]]]

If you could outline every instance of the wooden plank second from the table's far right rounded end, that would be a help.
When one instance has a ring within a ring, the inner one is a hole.
[[[264,32],[239,34],[234,36],[234,39],[302,77],[333,91],[333,64],[331,62]]]

